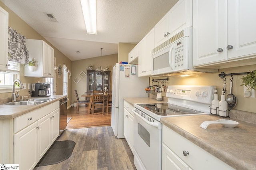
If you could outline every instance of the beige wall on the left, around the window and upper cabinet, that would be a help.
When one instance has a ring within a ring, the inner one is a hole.
[[[40,34],[38,34],[33,28],[31,28],[26,22],[24,22],[20,17],[18,17],[14,12],[12,12],[7,6],[0,2],[0,6],[4,8],[9,13],[9,27],[12,27],[19,34],[24,35],[28,39],[44,40],[51,47],[54,48],[54,57],[56,57],[56,63],[63,65],[65,63],[68,68],[71,69],[71,61],[58,49],[56,49],[52,44],[50,44],[46,39],[44,39]],[[37,81],[44,82],[44,78],[35,78],[35,77],[24,77],[24,68],[20,65],[20,80],[22,83],[36,83]],[[68,94],[71,94],[71,81],[68,83]],[[63,76],[61,78],[56,77],[56,95],[63,94]],[[29,95],[28,88],[26,90],[20,90],[20,95]],[[12,93],[0,93],[0,97],[11,97]],[[69,95],[68,95],[69,97]],[[71,98],[71,97],[69,97]],[[68,103],[70,105],[70,102]]]

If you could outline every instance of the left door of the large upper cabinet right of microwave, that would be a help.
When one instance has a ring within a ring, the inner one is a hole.
[[[193,66],[227,60],[226,6],[227,0],[193,0]]]

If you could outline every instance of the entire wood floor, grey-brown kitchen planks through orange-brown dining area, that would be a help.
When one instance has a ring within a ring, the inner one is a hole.
[[[68,109],[68,117],[72,119],[67,130],[56,141],[76,142],[72,155],[58,164],[40,166],[34,170],[136,170],[128,143],[114,136],[110,126],[111,114],[98,112],[88,115],[87,109],[82,106],[79,114],[76,114],[76,107]],[[87,125],[95,127],[79,128]]]

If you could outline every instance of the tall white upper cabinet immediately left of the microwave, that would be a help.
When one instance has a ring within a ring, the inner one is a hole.
[[[139,77],[150,76],[152,69],[152,50],[154,49],[154,28],[139,44]]]

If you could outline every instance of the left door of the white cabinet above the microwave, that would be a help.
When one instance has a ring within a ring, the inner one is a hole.
[[[155,47],[168,40],[170,12],[155,25]]]

